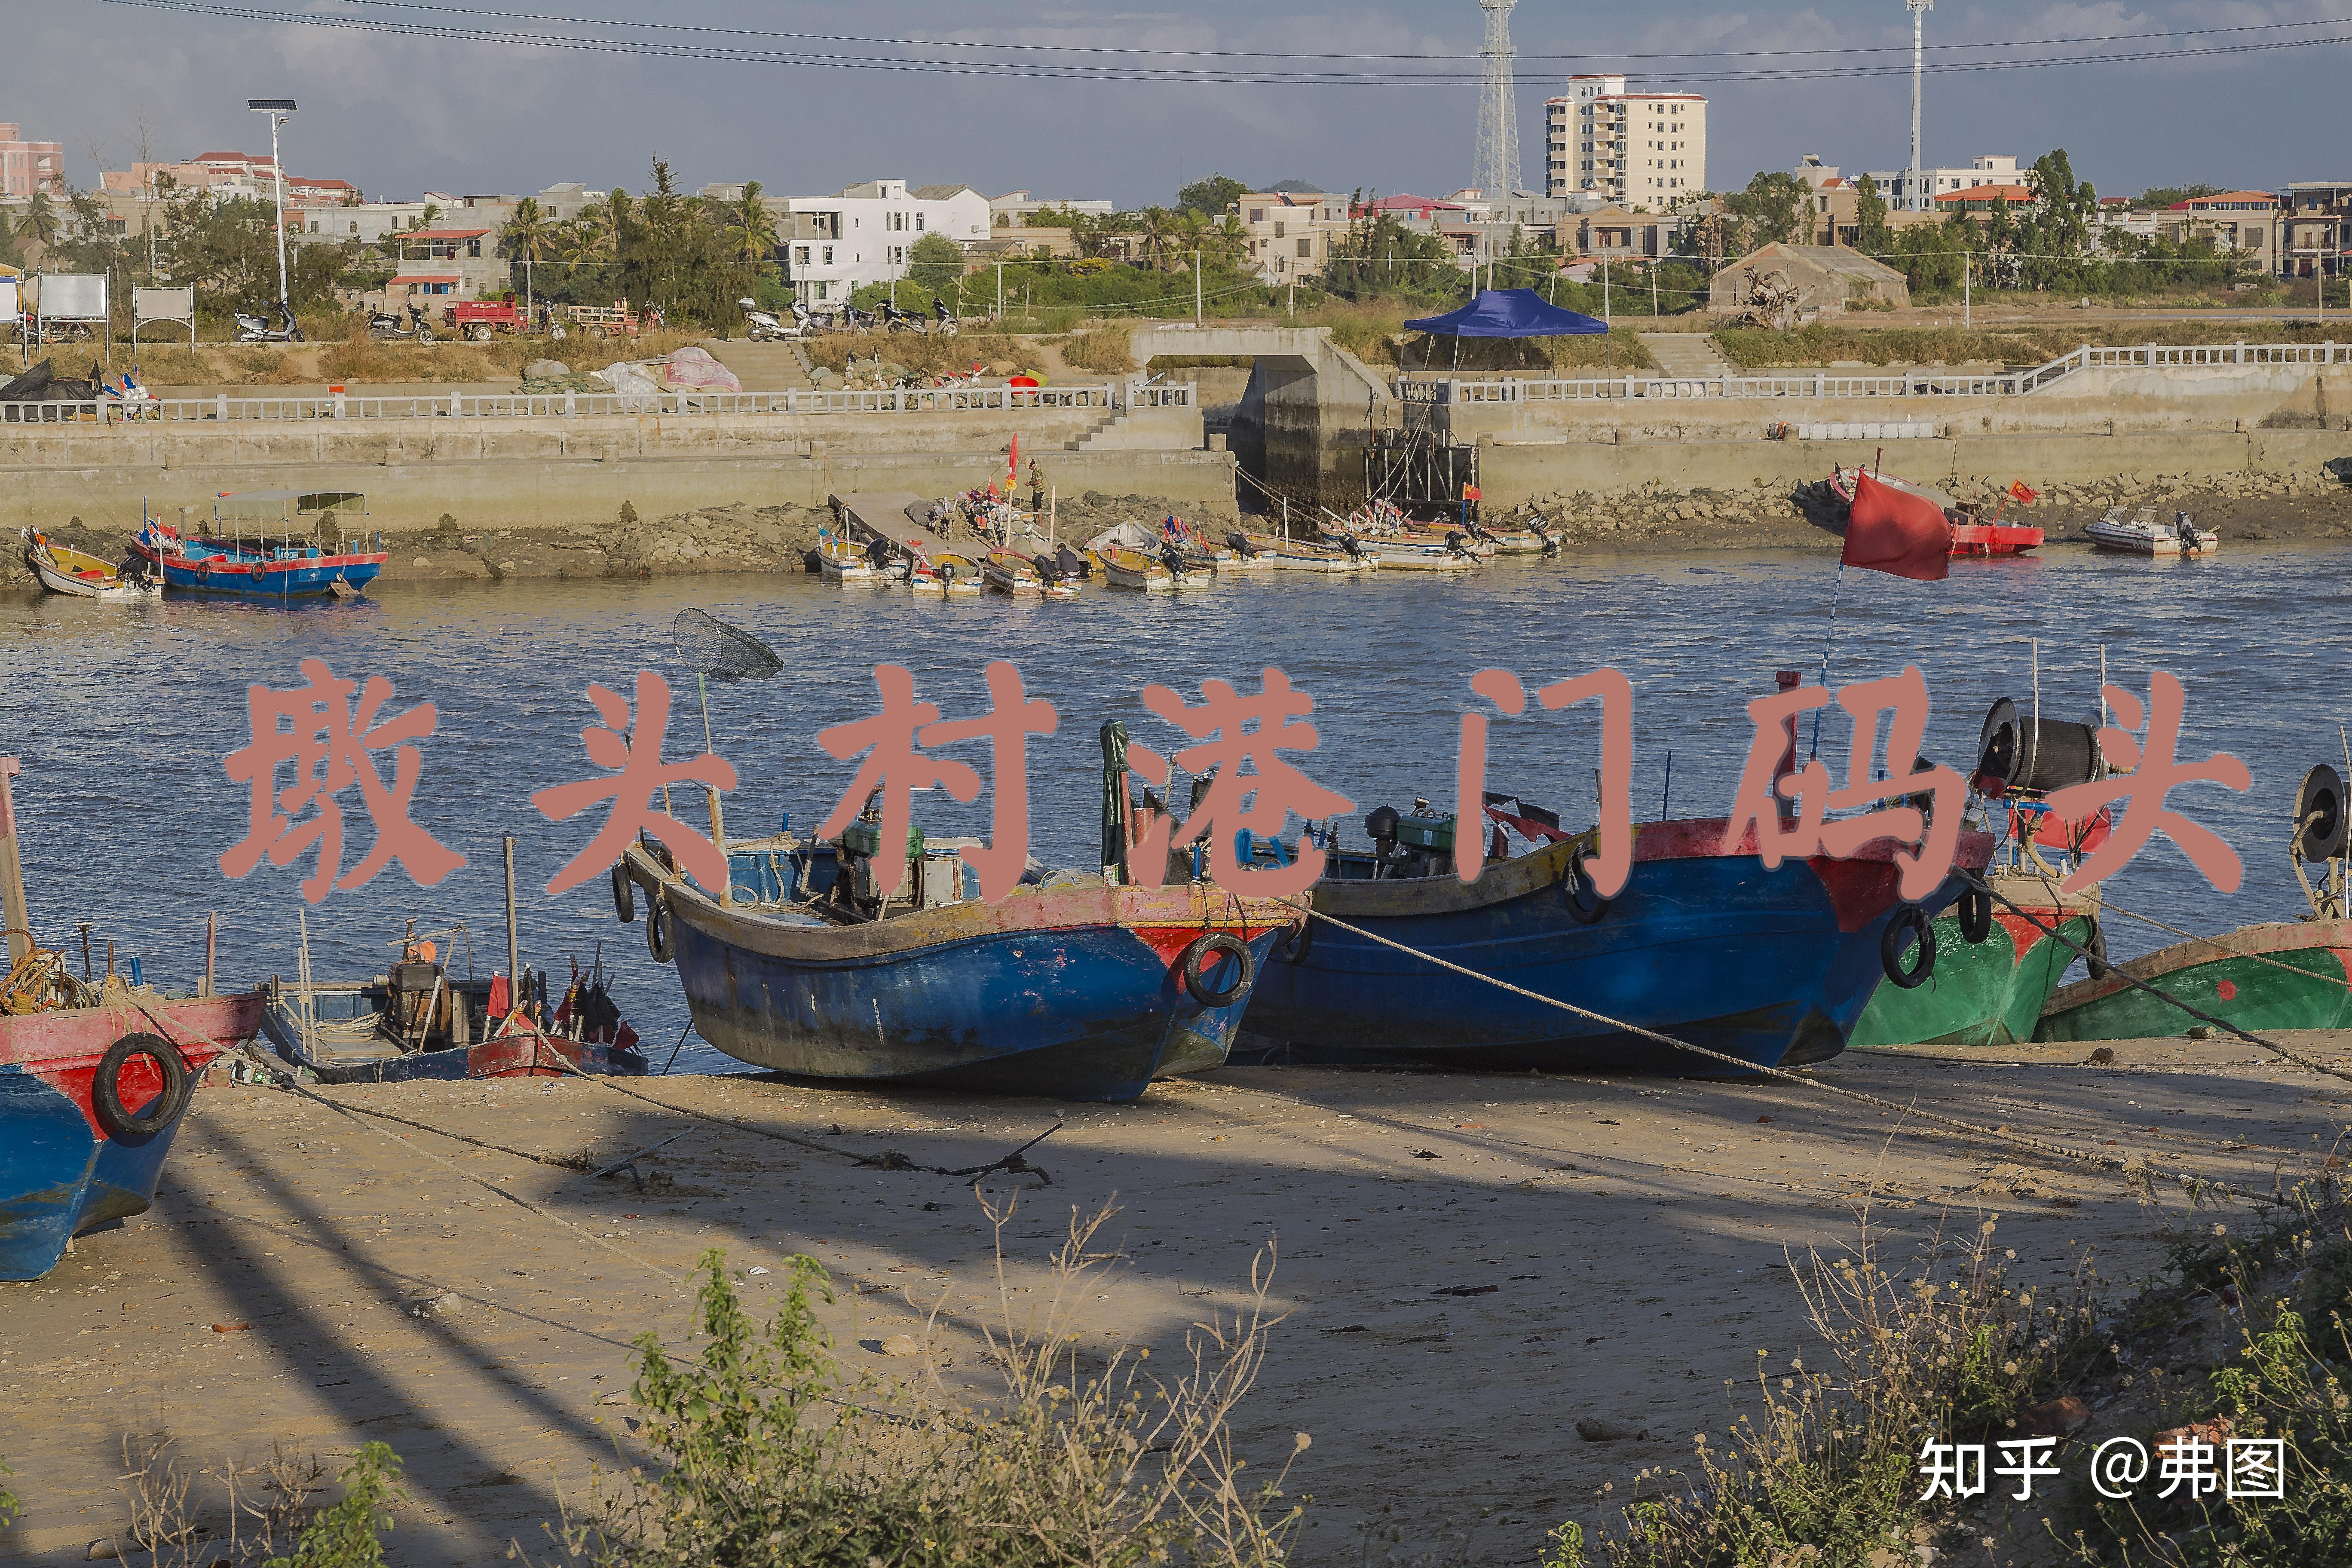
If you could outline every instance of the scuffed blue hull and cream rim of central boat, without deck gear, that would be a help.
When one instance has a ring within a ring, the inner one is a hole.
[[[1178,957],[1204,931],[1230,931],[1263,980],[1296,919],[1209,886],[1096,884],[840,926],[722,907],[640,849],[623,865],[673,922],[694,1027],[727,1056],[1058,1100],[1134,1100],[1155,1077],[1223,1065],[1251,992],[1202,1006]]]

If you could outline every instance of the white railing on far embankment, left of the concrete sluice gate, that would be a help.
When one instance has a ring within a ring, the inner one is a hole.
[[[924,386],[790,393],[430,393],[372,397],[99,397],[89,402],[0,402],[0,423],[299,423],[325,418],[581,418],[593,414],[1007,414],[1018,409],[1181,409],[1197,404],[1181,386]]]

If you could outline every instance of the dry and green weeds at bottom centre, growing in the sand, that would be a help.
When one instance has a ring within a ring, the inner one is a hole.
[[[1000,1324],[983,1333],[1004,1378],[990,1408],[957,1403],[938,1359],[915,1382],[844,1378],[816,1321],[830,1300],[811,1258],[786,1265],[786,1295],[753,1324],[724,1258],[701,1260],[701,1347],[673,1359],[637,1340],[635,1401],[661,1474],[633,1469],[588,1519],[567,1521],[564,1561],[630,1568],[873,1561],[891,1568],[1124,1568],[1162,1561],[1270,1568],[1284,1561],[1301,1507],[1282,1495],[1284,1462],[1244,1486],[1230,1418],[1258,1375],[1270,1262],[1232,1319],[1185,1340],[1171,1382],[1143,1373],[1148,1352],[1098,1363],[1080,1349],[1080,1302],[1117,1267],[1094,1251],[1112,1211],[1082,1220],[1054,1255],[1051,1288],[1021,1312],[1004,1279]],[[946,1295],[924,1316],[941,1328]],[[915,1305],[915,1302],[910,1302]],[[1291,1455],[1305,1448],[1305,1434]]]

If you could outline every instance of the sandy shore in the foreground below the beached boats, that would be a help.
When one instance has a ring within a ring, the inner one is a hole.
[[[2352,1063],[2347,1034],[2288,1039]],[[2265,1190],[2333,1145],[2352,1091],[2227,1039],[2112,1051],[1849,1053],[1806,1077]],[[1004,1229],[1014,1309],[1073,1208],[1120,1206],[1103,1234],[1129,1262],[1084,1324],[1101,1347],[1178,1345],[1244,1300],[1251,1258],[1275,1248],[1289,1319],[1240,1432],[1268,1462],[1312,1436],[1291,1474],[1312,1495],[1310,1563],[1359,1561],[1359,1521],[1383,1509],[1404,1540],[1374,1559],[1468,1563],[1534,1563],[1562,1519],[1613,1519],[1642,1467],[1724,1429],[1759,1349],[1806,1354],[1788,1255],[1851,1244],[1872,1190],[1884,1251],[1999,1215],[2027,1281],[2072,1272],[2082,1248],[2117,1284],[2145,1274],[2187,1211],[2178,1190],[2147,1206],[2110,1173],[1783,1081],[1251,1067],[1120,1107],[750,1077],[633,1088],[675,1110],[583,1079],[320,1091],[440,1128],[421,1131],[207,1086],[153,1213],[82,1237],[45,1281],[0,1286],[0,1455],[24,1500],[0,1556],[127,1547],[122,1443],[158,1429],[186,1462],[273,1441],[336,1462],[383,1439],[416,1493],[393,1561],[487,1563],[510,1540],[536,1554],[595,1465],[642,1455],[630,1338],[687,1340],[689,1288],[614,1248],[682,1279],[720,1246],[755,1309],[781,1274],[750,1269],[809,1253],[840,1291],[826,1316],[849,1366],[922,1331],[908,1291],[946,1295],[934,1349],[985,1389],[978,1324],[1000,1291],[978,1197],[854,1157],[978,1166],[1056,1119],[1030,1152],[1049,1187],[1033,1187]],[[642,1192],[527,1159],[649,1145]],[[1583,1418],[1651,1439],[1585,1441]]]

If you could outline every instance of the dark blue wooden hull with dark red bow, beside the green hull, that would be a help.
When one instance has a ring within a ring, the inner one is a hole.
[[[1327,879],[1315,907],[1418,952],[1675,1034],[1759,1067],[1846,1048],[1884,978],[1879,938],[1898,905],[1891,846],[1851,860],[1724,856],[1722,820],[1635,830],[1632,875],[1606,914],[1578,924],[1562,896],[1571,844],[1486,867],[1477,882]],[[1983,867],[1985,835],[1962,835]],[[1959,877],[1926,900],[1940,910]],[[1456,976],[1327,922],[1303,957],[1275,954],[1249,1030],[1289,1060],[1414,1058],[1454,1067],[1722,1074],[1710,1058],[1590,1023]]]

